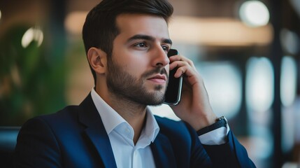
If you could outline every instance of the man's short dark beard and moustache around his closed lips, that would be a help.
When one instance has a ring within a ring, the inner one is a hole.
[[[141,78],[132,76],[127,71],[122,70],[122,67],[108,60],[108,72],[106,76],[106,84],[108,91],[115,94],[120,99],[127,99],[130,102],[135,102],[142,105],[157,106],[164,102],[164,94],[166,87],[163,85],[155,85],[154,91],[150,92],[145,87],[147,78],[154,74],[165,74],[168,77],[166,69],[158,66],[152,71],[146,71],[141,75]]]

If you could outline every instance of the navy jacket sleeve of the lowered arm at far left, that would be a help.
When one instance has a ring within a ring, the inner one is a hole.
[[[22,126],[15,147],[15,167],[62,167],[59,144],[51,128],[41,118]]]

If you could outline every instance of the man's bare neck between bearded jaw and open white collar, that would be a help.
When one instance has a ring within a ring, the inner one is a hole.
[[[117,113],[119,113],[120,116],[122,116],[122,118],[129,123],[129,125],[131,125],[131,127],[134,129],[133,141],[134,144],[136,144],[145,123],[146,106],[132,102],[125,97],[113,94],[111,92],[107,94],[109,96],[103,95],[103,92],[99,92],[98,90],[96,90],[96,92],[110,107],[117,111]]]

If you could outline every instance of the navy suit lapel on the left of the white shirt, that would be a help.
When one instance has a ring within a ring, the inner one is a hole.
[[[78,118],[80,123],[87,126],[85,133],[97,149],[104,167],[117,167],[108,134],[106,134],[101,117],[99,116],[96,106],[94,106],[91,94],[80,104]]]

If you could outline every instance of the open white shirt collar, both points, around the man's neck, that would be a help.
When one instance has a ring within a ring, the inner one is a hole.
[[[117,113],[113,108],[111,108],[100,96],[97,94],[97,92],[92,88],[91,91],[92,100],[96,106],[96,109],[101,116],[101,120],[103,122],[103,125],[105,127],[105,130],[107,134],[110,134],[115,128],[122,124],[127,123],[122,116]],[[155,117],[151,111],[150,108],[147,107],[146,111],[146,123],[145,127],[143,128],[143,131],[141,133],[141,138],[149,139],[150,141],[154,141],[157,137],[157,134],[159,132],[159,126],[157,124],[157,121],[155,120]],[[128,123],[127,123],[128,124]]]

